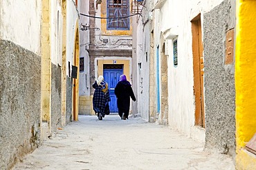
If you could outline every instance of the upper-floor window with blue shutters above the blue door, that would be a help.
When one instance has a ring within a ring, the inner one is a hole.
[[[129,15],[129,0],[107,1],[107,30],[130,30],[130,19],[116,18]]]

